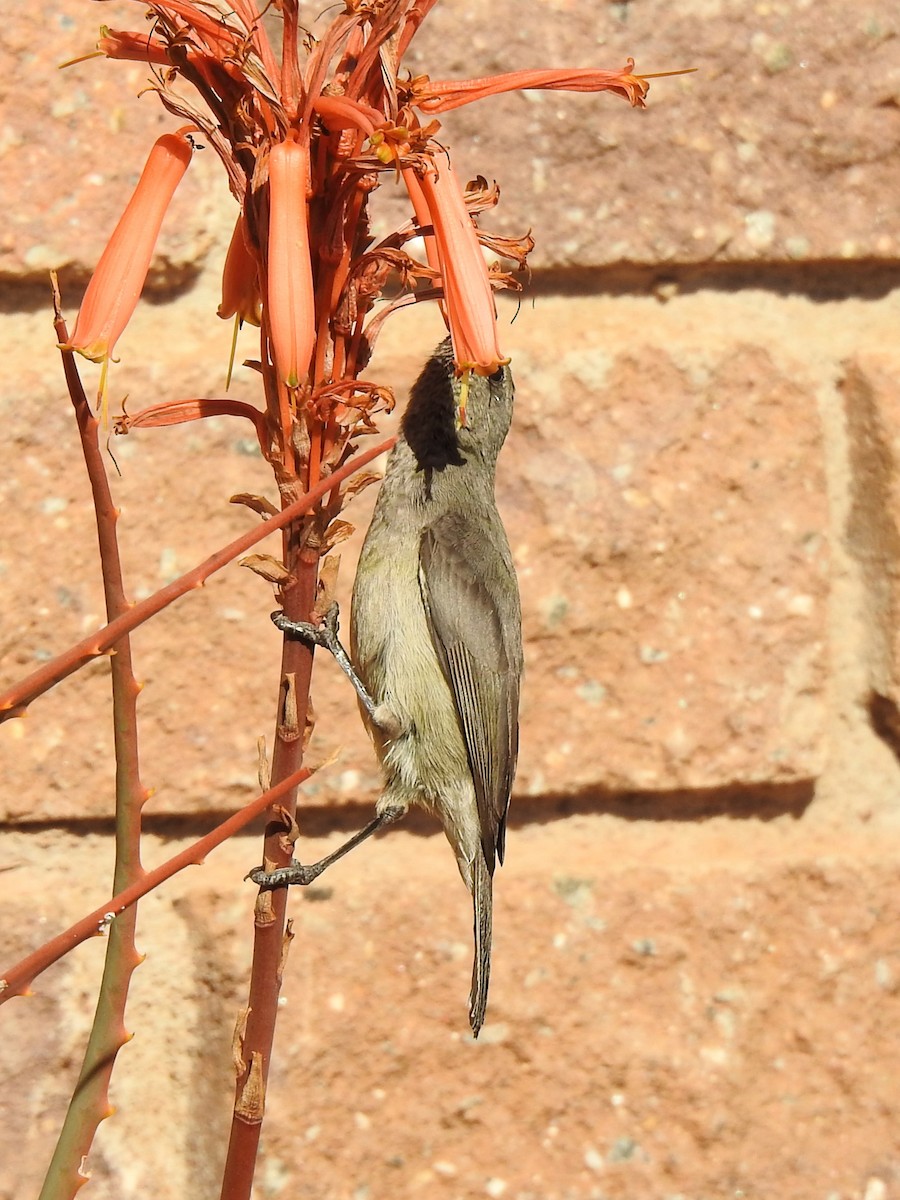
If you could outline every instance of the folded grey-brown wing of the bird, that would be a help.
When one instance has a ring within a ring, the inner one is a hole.
[[[456,702],[481,845],[493,872],[494,853],[503,862],[518,751],[522,634],[505,535],[500,528],[498,547],[486,533],[460,514],[439,517],[422,533],[419,577],[431,636]]]

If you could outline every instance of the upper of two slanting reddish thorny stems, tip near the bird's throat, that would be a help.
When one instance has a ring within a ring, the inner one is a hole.
[[[73,674],[92,659],[109,654],[116,641],[125,634],[131,632],[132,629],[137,629],[138,625],[142,625],[150,617],[154,617],[157,612],[170,605],[173,600],[178,600],[185,593],[202,587],[211,575],[227,566],[239,554],[256,546],[258,541],[262,541],[270,533],[275,533],[276,529],[283,529],[292,521],[295,521],[296,517],[308,512],[310,509],[318,504],[323,496],[328,496],[332,487],[336,487],[344,479],[349,479],[361,467],[365,467],[373,458],[390,450],[396,438],[385,438],[377,445],[370,446],[368,450],[354,455],[343,467],[340,467],[326,479],[323,479],[316,487],[310,488],[308,492],[300,496],[276,516],[269,517],[256,526],[256,528],[241,534],[240,538],[235,538],[234,541],[217,550],[215,554],[205,558],[193,570],[181,575],[164,588],[160,588],[158,592],[148,596],[146,600],[139,601],[139,604],[128,608],[126,613],[116,617],[115,620],[112,620],[102,629],[98,629],[96,634],[91,634],[80,642],[76,642],[74,646],[71,646],[62,654],[58,654],[56,658],[50,659],[42,667],[38,667],[37,671],[32,671],[30,676],[25,676],[24,679],[7,688],[6,691],[0,692],[0,721],[5,721],[11,716],[24,716],[25,709],[31,701],[42,696],[43,692],[49,691],[54,684]]]

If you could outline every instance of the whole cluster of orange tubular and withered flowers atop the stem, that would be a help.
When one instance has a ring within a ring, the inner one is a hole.
[[[506,361],[493,292],[518,283],[499,263],[488,266],[482,247],[523,268],[533,244],[479,229],[476,215],[497,202],[497,188],[484,180],[463,186],[433,115],[516,88],[605,90],[642,107],[649,77],[636,76],[629,60],[622,71],[404,78],[403,55],[434,2],[344,0],[314,40],[300,25],[298,0],[281,0],[277,54],[254,0],[151,2],[149,31],[104,28],[97,53],[146,62],[162,103],[185,124],[154,146],[68,348],[109,361],[200,140],[221,158],[239,204],[218,312],[260,329],[269,456],[283,470],[302,468],[313,481],[355,428],[340,414],[359,413],[371,425],[372,406],[384,403],[383,390],[354,382],[380,326],[384,313],[376,318],[372,308],[389,280],[400,283],[389,308],[438,299],[461,373],[490,374]],[[412,220],[373,241],[367,202],[385,173],[402,179]],[[410,253],[415,236],[424,236],[425,263]],[[306,462],[289,432],[299,416],[310,433],[300,439]]]

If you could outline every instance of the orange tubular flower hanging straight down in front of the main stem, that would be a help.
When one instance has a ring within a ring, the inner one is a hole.
[[[278,376],[288,388],[306,378],[316,342],[306,191],[310,148],[280,142],[269,154],[269,329]]]

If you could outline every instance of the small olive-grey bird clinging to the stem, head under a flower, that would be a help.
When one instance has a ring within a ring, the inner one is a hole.
[[[442,342],[410,390],[362,545],[349,659],[336,606],[316,629],[272,614],[286,632],[328,646],[350,676],[384,788],[374,820],[319,863],[251,872],[266,886],[310,882],[410,805],[437,815],[473,900],[475,1037],[518,752],[522,613],[494,497],[514,392],[508,365],[457,377],[451,342]],[[289,878],[292,868],[305,877]]]

